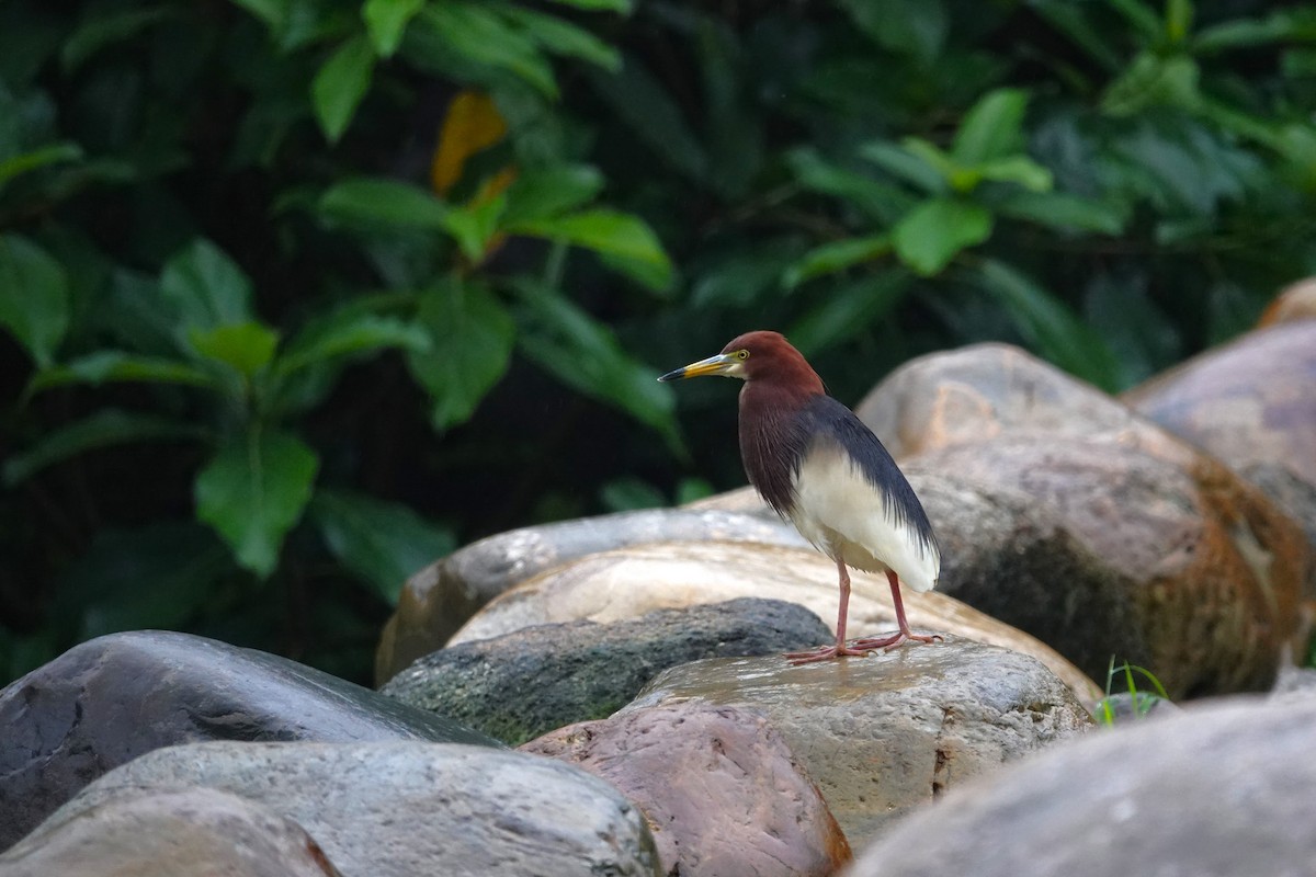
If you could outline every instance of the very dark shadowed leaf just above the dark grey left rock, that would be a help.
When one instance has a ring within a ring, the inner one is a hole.
[[[55,606],[79,640],[186,627],[232,569],[224,546],[195,522],[107,530],[61,577]]]

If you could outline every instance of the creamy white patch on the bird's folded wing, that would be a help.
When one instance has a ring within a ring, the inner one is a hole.
[[[882,490],[873,486],[840,447],[815,447],[795,479],[791,522],[825,555],[866,572],[894,569],[915,590],[932,590],[941,556],[920,546],[919,533],[887,515]]]

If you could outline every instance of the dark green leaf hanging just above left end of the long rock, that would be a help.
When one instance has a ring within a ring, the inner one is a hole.
[[[446,527],[425,521],[404,505],[347,490],[318,490],[311,518],[325,544],[345,567],[390,606],[416,571],[457,548]]]

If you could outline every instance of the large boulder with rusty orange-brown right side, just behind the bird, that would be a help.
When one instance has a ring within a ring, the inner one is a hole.
[[[1094,678],[1113,657],[1174,699],[1265,690],[1302,653],[1311,548],[1219,464],[1008,434],[905,469],[941,539],[941,590]]]

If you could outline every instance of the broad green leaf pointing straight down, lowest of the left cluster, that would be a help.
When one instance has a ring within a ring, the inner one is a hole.
[[[240,565],[267,577],[311,500],[318,468],[315,451],[297,437],[253,426],[221,444],[196,476],[196,517],[215,527]]]

